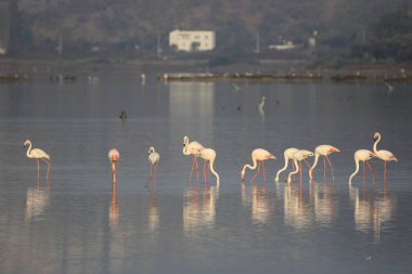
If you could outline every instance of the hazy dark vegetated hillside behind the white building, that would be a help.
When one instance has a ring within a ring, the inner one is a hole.
[[[13,1],[13,0],[11,0]],[[156,56],[169,54],[168,32],[211,29],[215,58],[227,62],[250,54],[273,54],[270,44],[293,41],[292,54],[306,58],[352,57],[411,60],[408,0],[20,0],[18,53]],[[401,10],[402,12],[398,12]],[[384,30],[384,31],[383,31]],[[316,31],[317,47],[308,48]],[[229,54],[230,53],[230,54]],[[170,53],[171,54],[171,53]],[[224,56],[222,60],[221,56]]]

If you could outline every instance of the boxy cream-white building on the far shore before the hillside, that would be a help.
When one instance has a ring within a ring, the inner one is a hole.
[[[215,45],[215,31],[211,30],[176,29],[169,34],[169,47],[178,51],[211,51]]]

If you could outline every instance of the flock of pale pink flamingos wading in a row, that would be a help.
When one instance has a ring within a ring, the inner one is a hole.
[[[263,102],[265,102],[265,99],[263,99],[262,103]],[[351,184],[355,175],[359,172],[360,162],[362,162],[362,168],[363,168],[363,181],[364,181],[364,177],[365,177],[365,165],[368,166],[369,170],[371,171],[371,173],[373,175],[373,181],[375,181],[375,172],[374,172],[371,164],[369,162],[373,157],[376,157],[376,158],[384,161],[384,182],[386,183],[386,181],[387,181],[387,162],[388,161],[398,161],[398,159],[389,151],[377,149],[377,144],[381,142],[381,138],[382,136],[381,136],[379,132],[374,133],[373,152],[369,151],[369,149],[358,149],[355,152],[355,154],[353,154],[355,171],[349,177],[349,185]],[[26,140],[24,142],[24,147],[28,147],[27,153],[26,153],[27,157],[31,158],[31,159],[36,159],[36,161],[37,161],[37,181],[38,181],[38,183],[39,183],[39,178],[40,178],[40,160],[42,160],[43,162],[47,164],[47,166],[48,166],[47,181],[49,184],[50,168],[51,168],[50,155],[40,148],[31,148],[31,142],[29,140]],[[300,178],[300,182],[301,182],[301,180],[302,180],[301,161],[305,161],[305,164],[307,165],[307,167],[309,169],[309,171],[308,171],[309,179],[312,181],[313,180],[313,171],[318,165],[320,157],[323,158],[323,178],[324,178],[324,180],[326,178],[326,161],[327,161],[330,169],[331,169],[332,180],[334,180],[333,165],[329,158],[329,155],[331,155],[332,153],[337,153],[337,152],[340,152],[340,151],[338,148],[332,146],[332,145],[319,145],[314,148],[314,153],[311,151],[307,151],[307,149],[298,149],[295,147],[289,147],[289,148],[284,151],[284,161],[285,161],[284,167],[278,171],[278,173],[274,178],[274,181],[279,182],[281,173],[283,171],[285,171],[288,167],[288,164],[292,162],[292,171],[288,173],[285,182],[291,183],[292,177],[295,177],[295,174],[297,174],[298,172],[299,172],[299,178]],[[199,142],[196,142],[196,141],[190,142],[189,136],[184,136],[183,138],[183,151],[182,151],[182,153],[184,156],[192,156],[192,169],[191,169],[191,173],[189,177],[189,181],[192,181],[193,171],[194,171],[194,169],[196,169],[196,180],[198,182],[198,180],[199,180],[199,168],[198,168],[197,158],[202,158],[202,159],[204,159],[203,177],[204,177],[205,183],[208,181],[208,172],[210,171],[216,177],[216,184],[217,184],[217,186],[219,186],[220,177],[219,177],[218,172],[215,170],[215,160],[216,160],[216,155],[217,155],[215,149],[206,148]],[[112,148],[108,152],[107,156],[108,156],[108,159],[111,161],[113,183],[116,184],[117,183],[116,164],[119,159],[120,154],[116,148]],[[309,159],[309,157],[313,157],[313,156],[314,156],[314,161],[313,161],[312,166],[310,166],[308,162],[308,159]],[[151,179],[153,180],[154,185],[156,185],[156,169],[157,169],[157,165],[160,160],[160,155],[155,151],[155,148],[153,146],[151,146],[149,148],[147,159],[150,162],[151,171],[150,171],[150,175],[147,178],[146,187],[147,187]],[[241,171],[241,181],[242,182],[245,181],[246,169],[250,169],[250,170],[257,169],[256,173],[250,179],[250,182],[254,182],[255,179],[259,175],[260,168],[261,168],[262,169],[262,179],[263,179],[263,182],[266,182],[267,181],[267,173],[266,173],[265,162],[267,160],[275,160],[275,159],[276,159],[276,157],[272,153],[270,153],[263,148],[254,149],[252,152],[253,166],[249,164],[245,164],[243,166],[243,169]]]

